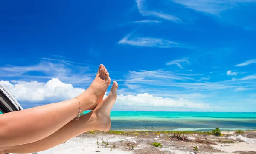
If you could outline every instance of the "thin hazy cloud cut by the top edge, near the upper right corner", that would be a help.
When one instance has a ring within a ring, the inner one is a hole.
[[[187,8],[201,11],[208,14],[218,15],[221,11],[232,9],[238,3],[255,2],[256,0],[172,0],[175,3],[186,6]]]

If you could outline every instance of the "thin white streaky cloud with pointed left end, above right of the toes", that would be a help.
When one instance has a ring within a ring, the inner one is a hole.
[[[118,44],[128,44],[131,46],[157,47],[157,48],[172,48],[178,47],[178,43],[160,38],[150,37],[135,37],[130,38],[131,34],[126,35]]]

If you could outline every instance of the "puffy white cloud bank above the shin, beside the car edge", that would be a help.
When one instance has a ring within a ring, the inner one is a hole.
[[[72,84],[61,82],[57,78],[44,82],[17,81],[12,84],[9,81],[0,81],[18,101],[41,102],[44,100],[67,100],[78,96],[84,89],[74,88]],[[53,102],[51,102],[53,103]]]

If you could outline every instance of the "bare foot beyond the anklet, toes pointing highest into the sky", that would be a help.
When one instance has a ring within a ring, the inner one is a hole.
[[[90,87],[78,96],[81,103],[81,110],[93,110],[102,102],[106,90],[111,83],[109,73],[104,65],[100,64],[93,83]]]

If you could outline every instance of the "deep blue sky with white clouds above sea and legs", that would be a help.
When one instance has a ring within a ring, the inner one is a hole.
[[[113,110],[256,111],[255,19],[256,0],[4,0],[0,83],[30,108],[80,94],[103,63]]]

